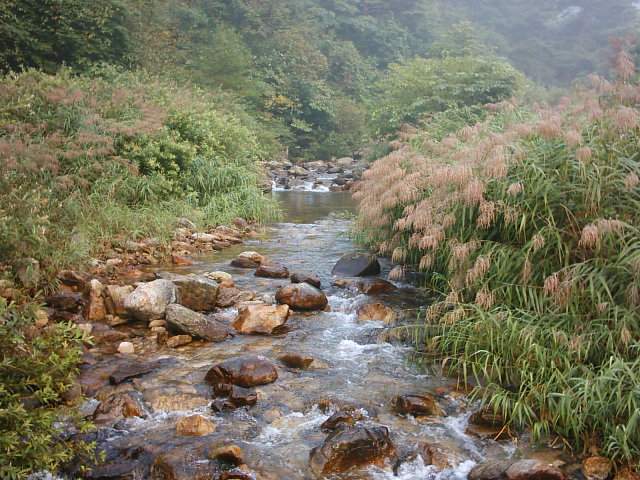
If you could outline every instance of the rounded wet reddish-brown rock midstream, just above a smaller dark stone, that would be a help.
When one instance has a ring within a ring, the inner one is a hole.
[[[245,355],[220,362],[205,376],[205,380],[211,385],[227,383],[246,388],[273,383],[277,379],[275,365],[257,355]]]

